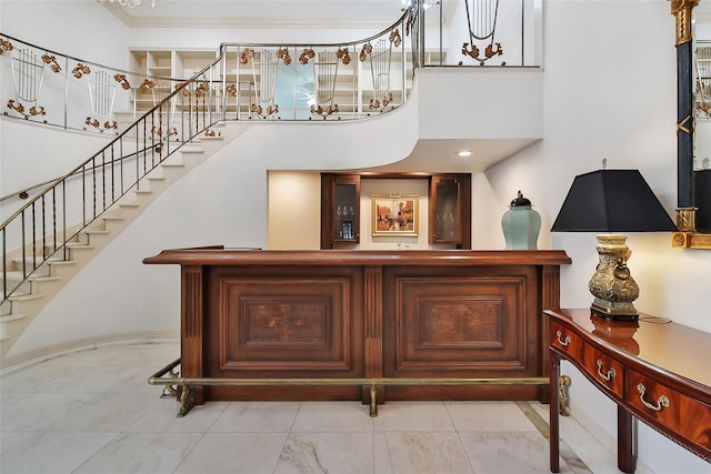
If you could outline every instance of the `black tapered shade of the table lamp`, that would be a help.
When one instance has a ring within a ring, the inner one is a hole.
[[[552,232],[677,231],[638,170],[598,170],[575,177]]]

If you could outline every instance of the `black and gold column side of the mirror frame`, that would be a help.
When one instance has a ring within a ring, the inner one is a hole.
[[[693,202],[693,8],[700,0],[670,0],[677,33],[677,228],[672,246],[680,249],[711,249],[711,234],[697,232]]]

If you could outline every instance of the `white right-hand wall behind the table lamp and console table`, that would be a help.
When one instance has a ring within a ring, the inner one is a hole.
[[[673,215],[674,19],[665,1],[547,1],[544,24],[545,139],[490,169],[490,188],[475,188],[473,199],[479,210],[501,209],[522,189],[543,221],[539,248],[564,249],[573,260],[561,272],[561,304],[584,307],[592,300],[595,236],[545,230],[574,175],[600,169],[603,158],[611,169],[639,169]],[[495,213],[479,215],[495,226]],[[630,234],[628,244],[637,307],[711,332],[711,251],[672,249],[669,233]],[[573,409],[613,436],[614,405],[573,369],[563,373],[573,377]],[[709,472],[708,463],[641,424],[639,456],[658,474]]]

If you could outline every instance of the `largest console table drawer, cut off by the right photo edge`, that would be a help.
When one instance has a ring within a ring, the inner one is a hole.
[[[672,432],[711,452],[711,406],[635,371],[630,371],[628,399],[639,416],[651,418],[663,433]]]

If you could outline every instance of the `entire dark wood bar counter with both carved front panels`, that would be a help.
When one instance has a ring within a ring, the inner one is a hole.
[[[181,374],[545,376],[561,251],[168,250],[182,265]],[[554,286],[554,288],[552,288]],[[357,385],[204,385],[206,400],[363,400]],[[378,400],[545,400],[532,385],[387,386]]]

